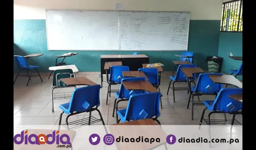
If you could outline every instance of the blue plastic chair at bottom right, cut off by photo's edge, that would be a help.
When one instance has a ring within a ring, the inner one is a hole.
[[[242,88],[222,88],[215,100],[210,101],[203,101],[204,105],[206,106],[202,112],[201,120],[199,125],[202,124],[202,121],[204,120],[208,125],[211,125],[211,114],[213,113],[231,113],[233,114],[232,120],[225,120],[223,123],[230,123],[228,121],[231,121],[231,125],[234,125],[235,116],[236,114],[242,114],[239,112],[239,110],[242,110],[243,104],[239,101],[236,101],[229,97],[229,95],[235,95],[235,94],[242,94],[243,89]],[[205,110],[211,111],[208,115],[208,121],[204,119],[204,113]],[[220,123],[220,120],[218,120]],[[236,120],[237,121],[237,120]],[[238,121],[237,121],[238,122]],[[235,123],[237,124],[237,123]],[[240,122],[238,122],[239,125],[241,125]]]

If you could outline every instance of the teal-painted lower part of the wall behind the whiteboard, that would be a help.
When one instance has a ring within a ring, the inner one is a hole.
[[[217,56],[219,50],[220,20],[191,20],[189,26],[189,51],[195,52],[194,63],[206,70],[207,56]],[[100,71],[100,55],[132,54],[124,51],[49,51],[47,50],[45,19],[14,20],[14,49],[17,55],[43,53],[37,58],[30,58],[29,64],[41,66],[41,72],[49,72],[48,67],[55,65],[55,55],[67,52],[79,52],[66,58],[67,64],[75,64],[82,72]],[[172,61],[179,60],[175,55],[181,51],[139,52],[149,56],[150,63],[163,63],[164,70],[173,70]]]

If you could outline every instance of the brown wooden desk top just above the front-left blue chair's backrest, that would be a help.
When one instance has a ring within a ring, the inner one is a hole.
[[[61,81],[68,86],[71,86],[71,85],[97,85],[97,83],[87,79],[84,76],[73,77],[73,78],[63,78],[63,79],[61,79]]]

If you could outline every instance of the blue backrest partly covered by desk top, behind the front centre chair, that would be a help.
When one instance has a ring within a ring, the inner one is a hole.
[[[124,86],[123,86],[123,81],[146,81],[145,77],[133,77],[133,78],[123,78],[121,81],[121,85],[120,85],[120,90],[118,93],[118,98],[130,98],[130,92],[131,90],[127,90]],[[140,94],[140,93],[146,93],[146,91],[136,91],[133,90],[136,94]]]

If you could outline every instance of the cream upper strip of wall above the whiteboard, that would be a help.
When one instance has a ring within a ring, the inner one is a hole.
[[[223,0],[14,0],[14,19],[45,19],[45,9],[190,11],[192,20],[220,20]]]

